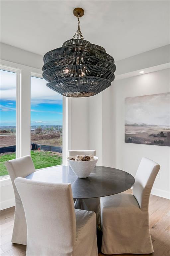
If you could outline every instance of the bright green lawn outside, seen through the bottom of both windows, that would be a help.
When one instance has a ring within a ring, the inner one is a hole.
[[[31,151],[31,157],[36,169],[62,164],[62,157],[49,151],[33,150]],[[8,175],[7,169],[5,167],[5,161],[15,158],[15,153],[0,156],[0,176]]]

